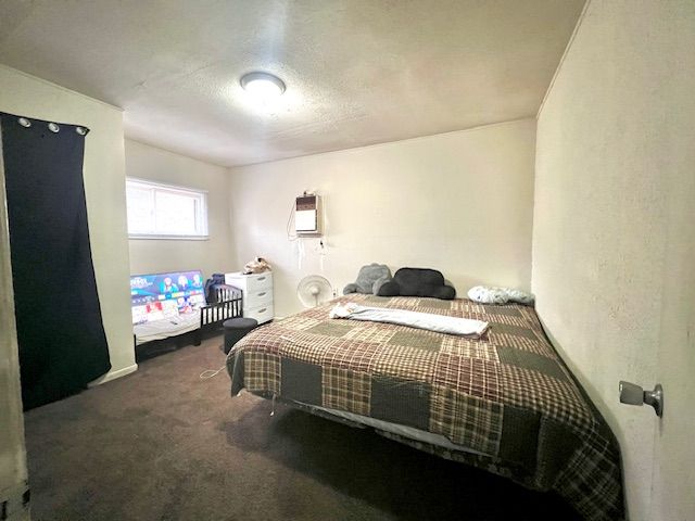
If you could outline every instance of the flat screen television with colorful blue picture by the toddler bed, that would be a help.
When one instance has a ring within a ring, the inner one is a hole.
[[[205,305],[204,284],[200,270],[131,276],[132,323],[195,312]]]

